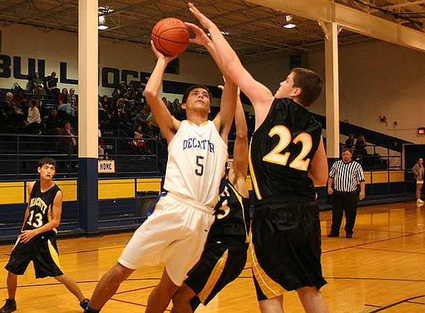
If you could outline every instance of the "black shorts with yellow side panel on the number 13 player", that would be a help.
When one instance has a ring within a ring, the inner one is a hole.
[[[5,268],[10,273],[24,275],[31,261],[36,278],[63,275],[55,236],[39,234],[28,243],[22,243],[18,238]]]

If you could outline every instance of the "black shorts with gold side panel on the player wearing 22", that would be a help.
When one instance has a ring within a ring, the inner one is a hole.
[[[326,284],[318,206],[310,198],[263,200],[252,217],[252,271],[258,300]]]

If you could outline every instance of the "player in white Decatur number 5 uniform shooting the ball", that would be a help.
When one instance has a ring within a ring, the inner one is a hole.
[[[205,33],[196,33],[191,42],[208,49],[219,60]],[[85,312],[100,312],[118,289],[141,265],[164,262],[160,283],[148,298],[147,313],[164,312],[171,297],[183,284],[187,272],[196,264],[214,220],[219,182],[224,175],[227,136],[237,99],[237,87],[227,77],[221,111],[208,121],[211,94],[205,86],[192,86],[182,99],[187,120],[173,118],[159,96],[167,64],[174,57],[164,56],[152,44],[157,57],[144,95],[169,144],[169,160],[164,189],[153,214],[134,232],[118,262],[103,275],[95,287]],[[219,67],[221,65],[217,63]]]

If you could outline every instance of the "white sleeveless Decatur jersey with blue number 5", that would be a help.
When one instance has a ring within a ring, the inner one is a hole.
[[[213,207],[224,175],[227,145],[214,123],[184,120],[168,145],[164,189]]]

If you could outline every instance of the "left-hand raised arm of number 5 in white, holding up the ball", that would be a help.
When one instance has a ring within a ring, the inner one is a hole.
[[[167,67],[168,63],[173,60],[173,58],[176,58],[176,56],[164,56],[160,53],[160,51],[157,51],[152,41],[150,44],[152,45],[153,53],[157,57],[157,63],[152,74],[150,75],[148,83],[146,83],[144,95],[146,97],[146,102],[149,104],[150,110],[155,117],[155,120],[157,120],[158,125],[160,125],[162,134],[164,134],[165,138],[167,138],[167,141],[170,142],[176,134],[178,127],[180,127],[180,121],[171,116],[167,106],[165,106],[164,102],[162,102],[159,92],[162,85],[162,77],[164,76],[165,68]]]

